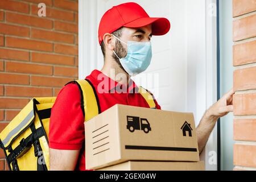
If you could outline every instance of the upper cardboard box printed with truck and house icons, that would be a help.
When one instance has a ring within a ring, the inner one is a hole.
[[[192,113],[115,105],[85,122],[86,169],[129,160],[198,162]]]

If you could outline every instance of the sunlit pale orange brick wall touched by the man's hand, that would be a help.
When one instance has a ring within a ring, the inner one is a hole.
[[[256,0],[233,0],[234,170],[256,170]]]

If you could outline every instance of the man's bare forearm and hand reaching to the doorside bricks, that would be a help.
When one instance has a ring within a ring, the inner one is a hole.
[[[233,111],[233,95],[234,90],[232,89],[205,112],[196,128],[199,153],[203,151],[218,118]]]

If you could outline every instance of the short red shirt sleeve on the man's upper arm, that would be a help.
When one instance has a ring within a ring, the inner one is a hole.
[[[80,90],[75,83],[71,83],[60,90],[52,107],[49,147],[59,150],[80,150],[84,139]]]

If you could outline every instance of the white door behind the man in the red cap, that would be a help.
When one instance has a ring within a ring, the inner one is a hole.
[[[80,0],[79,1],[79,76],[84,78],[104,63],[97,41],[98,24],[111,7],[137,2],[150,16],[165,17],[171,30],[153,36],[153,58],[145,73],[133,78],[154,93],[163,110],[189,111],[196,125],[205,109],[216,101],[216,0]],[[217,169],[209,157],[217,154],[216,130],[201,155],[209,170]]]

